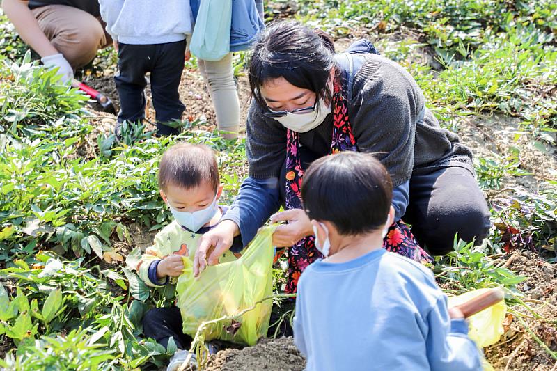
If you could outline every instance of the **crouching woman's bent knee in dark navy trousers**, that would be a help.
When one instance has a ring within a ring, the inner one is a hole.
[[[412,175],[410,203],[402,220],[412,225],[421,246],[432,255],[453,251],[455,233],[480,244],[489,232],[489,208],[478,182],[465,168],[441,168]]]

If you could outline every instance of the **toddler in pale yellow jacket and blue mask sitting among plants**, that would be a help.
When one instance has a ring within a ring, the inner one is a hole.
[[[174,220],[155,236],[136,271],[143,282],[152,287],[175,285],[182,274],[182,256],[193,258],[198,239],[221,220],[228,207],[219,206],[222,185],[214,152],[205,145],[178,144],[164,152],[159,164],[159,189]],[[241,237],[236,237],[230,251],[219,262],[240,257]],[[177,370],[187,357],[191,338],[182,333],[180,309],[154,308],[143,317],[143,333],[167,347],[173,338],[178,352],[167,370]],[[193,358],[195,361],[195,358]]]

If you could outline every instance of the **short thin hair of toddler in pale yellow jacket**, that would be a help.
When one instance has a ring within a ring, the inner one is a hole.
[[[214,152],[207,145],[180,143],[168,148],[159,164],[159,188],[169,185],[184,189],[210,182],[214,191],[219,187],[219,166]]]

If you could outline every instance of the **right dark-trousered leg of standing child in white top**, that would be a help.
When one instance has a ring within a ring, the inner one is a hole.
[[[152,103],[157,118],[157,136],[178,134],[178,128],[166,125],[182,119],[185,106],[180,101],[180,79],[184,70],[186,40],[155,45],[155,63],[151,70]]]

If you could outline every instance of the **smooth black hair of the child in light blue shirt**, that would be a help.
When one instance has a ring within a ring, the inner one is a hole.
[[[333,223],[341,235],[359,235],[384,225],[393,184],[375,157],[346,151],[311,164],[301,198],[310,219]]]

